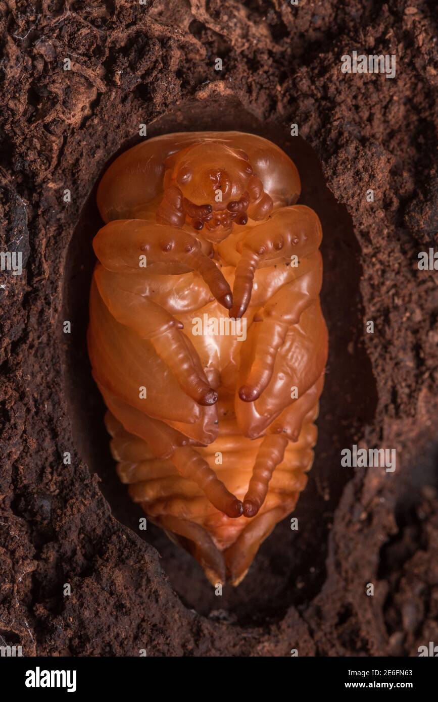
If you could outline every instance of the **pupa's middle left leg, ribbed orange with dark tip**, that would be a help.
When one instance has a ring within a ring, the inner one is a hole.
[[[114,319],[131,327],[140,338],[151,340],[187,395],[201,405],[214,404],[218,394],[208,385],[196,351],[180,331],[183,324],[147,296],[119,288],[119,275],[102,265],[96,266],[94,277]]]

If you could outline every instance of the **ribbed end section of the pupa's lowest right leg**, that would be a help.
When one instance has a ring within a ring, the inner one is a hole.
[[[255,517],[265,502],[272,473],[284,458],[288,439],[283,436],[266,436],[257,451],[253,473],[244,497],[244,516]]]

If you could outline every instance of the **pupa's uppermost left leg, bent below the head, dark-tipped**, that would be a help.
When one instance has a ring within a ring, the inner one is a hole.
[[[227,310],[232,306],[230,286],[218,266],[201,251],[199,241],[178,227],[142,220],[115,220],[93,239],[100,263],[113,272],[138,272],[154,263],[180,263],[196,270],[211,294]]]

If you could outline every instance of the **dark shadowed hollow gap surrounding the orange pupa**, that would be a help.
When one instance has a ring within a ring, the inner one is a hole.
[[[326,385],[319,414],[319,439],[307,488],[293,516],[278,524],[263,543],[255,561],[238,588],[227,586],[222,597],[204,578],[197,562],[175,546],[166,535],[148,523],[139,531],[143,516],[117,478],[110,455],[109,437],[103,424],[105,406],[93,383],[86,350],[88,292],[95,257],[91,241],[102,225],[95,206],[96,186],[81,213],[69,244],[64,289],[64,317],[72,322],[72,340],[66,348],[66,395],[74,439],[81,457],[98,473],[102,493],[114,517],[154,545],[161,564],[187,607],[200,614],[261,625],[279,620],[288,607],[305,604],[319,592],[325,578],[329,529],[348,473],[340,468],[340,450],[361,437],[364,425],[373,420],[376,385],[371,364],[361,343],[364,312],[359,293],[360,251],[352,222],[344,206],[327,189],[319,160],[301,138],[279,138],[281,126],[260,124],[237,101],[213,98],[179,107],[148,127],[148,135],[173,131],[246,131],[277,143],[296,162],[303,184],[300,204],[307,204],[321,218],[324,241],[324,285],[321,302],[330,343]],[[111,161],[139,140],[125,143]],[[108,161],[102,173],[110,164]]]

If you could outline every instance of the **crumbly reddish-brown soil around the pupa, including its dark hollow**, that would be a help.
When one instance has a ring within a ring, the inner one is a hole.
[[[0,31],[1,250],[25,260],[0,280],[0,644],[416,656],[437,642],[438,281],[417,267],[437,232],[434,2],[3,0]],[[353,50],[396,54],[397,76],[342,74]],[[222,597],[138,530],[86,357],[93,188],[141,123],[277,140],[324,228],[331,346],[299,529],[280,524]],[[397,470],[340,468],[354,442],[397,449]]]

